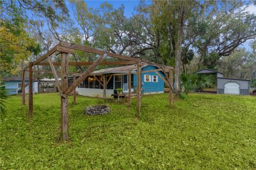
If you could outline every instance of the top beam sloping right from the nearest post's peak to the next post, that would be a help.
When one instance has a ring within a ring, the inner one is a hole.
[[[109,57],[119,58],[119,59],[122,59],[122,60],[128,60],[128,61],[133,61],[133,62],[141,62],[141,60],[139,58],[133,58],[133,57],[124,56],[124,55],[120,55],[120,54],[105,52],[105,51],[102,51],[102,50],[99,50],[99,49],[95,49],[95,48],[91,48],[91,47],[85,47],[85,46],[71,44],[71,43],[66,43],[66,42],[61,42],[60,46],[67,47],[67,48],[72,48],[72,49],[77,49],[77,50],[81,50],[83,52],[89,52],[89,53],[94,53],[94,54],[100,54],[100,55],[107,54],[107,56],[109,56]]]

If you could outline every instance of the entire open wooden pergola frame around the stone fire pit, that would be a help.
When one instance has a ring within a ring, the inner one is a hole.
[[[83,52],[88,53],[94,53],[101,55],[96,61],[94,62],[68,62],[68,54],[74,54],[75,50],[80,50]],[[61,62],[56,63],[52,62],[51,55],[55,53],[56,55],[61,55]],[[106,57],[114,57],[125,61],[103,61]],[[47,58],[48,62],[43,62]],[[149,71],[141,71],[142,64],[149,64],[154,65],[158,67],[158,69],[155,70],[149,70]],[[74,98],[73,101],[75,102],[75,89],[76,87],[91,73],[94,71],[94,69],[98,65],[129,65],[129,64],[137,64],[137,113],[136,118],[140,117],[140,110],[141,110],[141,73],[146,72],[155,72],[166,84],[169,86],[169,101],[170,105],[173,104],[172,102],[172,74],[173,74],[173,67],[165,66],[161,64],[156,64],[152,62],[148,62],[145,60],[140,60],[139,58],[133,58],[125,55],[119,55],[115,53],[105,52],[103,50],[98,50],[91,47],[85,47],[81,45],[75,45],[71,43],[66,43],[61,41],[59,44],[54,46],[49,52],[44,54],[42,57],[39,57],[35,62],[30,62],[26,67],[22,69],[22,105],[25,105],[25,88],[26,86],[29,86],[29,98],[28,98],[28,115],[29,118],[32,118],[33,116],[33,66],[34,65],[50,65],[52,74],[54,76],[55,82],[57,84],[58,90],[60,92],[60,99],[61,99],[61,140],[68,140],[68,95],[73,92]],[[54,65],[61,66],[61,82],[58,80],[58,74],[55,70]],[[90,65],[89,68],[82,73],[77,79],[76,75],[74,74],[74,81],[71,84],[71,86],[68,86],[68,66],[69,65]],[[29,73],[29,82],[25,84],[25,72],[28,70]],[[164,73],[164,77],[166,80],[162,77],[161,74],[158,73],[158,71],[162,71]],[[40,71],[34,71],[34,72],[40,72]],[[44,72],[44,71],[41,71]],[[169,77],[166,72],[169,72]],[[131,72],[128,73],[128,79],[129,79],[129,97],[128,102],[131,103]],[[110,79],[109,79],[110,80]],[[103,75],[103,98],[106,98],[106,86],[109,82],[107,80],[106,75]]]

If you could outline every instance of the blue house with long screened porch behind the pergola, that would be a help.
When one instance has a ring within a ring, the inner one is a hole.
[[[142,92],[143,94],[158,94],[164,92],[164,81],[159,78],[164,77],[162,71],[158,71],[158,74],[150,70],[159,69],[157,66],[144,64],[141,67],[142,77]],[[135,92],[137,88],[137,65],[127,65],[120,67],[113,67],[109,69],[102,69],[94,71],[89,77],[87,77],[76,88],[78,95],[91,96],[91,97],[103,97],[103,76],[106,76],[106,97],[111,98],[111,95],[116,93],[117,88],[122,88],[123,92],[129,91],[128,86],[128,74],[131,72],[131,92]],[[78,78],[78,75],[75,76]],[[73,81],[73,78],[69,78],[69,84]]]

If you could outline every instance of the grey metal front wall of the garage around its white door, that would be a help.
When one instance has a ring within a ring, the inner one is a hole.
[[[225,78],[218,78],[217,81],[217,93],[218,94],[224,94],[224,84],[227,82],[237,82],[240,84],[240,95],[249,95],[250,94],[250,88],[249,88],[249,81],[247,80],[237,80],[237,79],[225,79]]]

